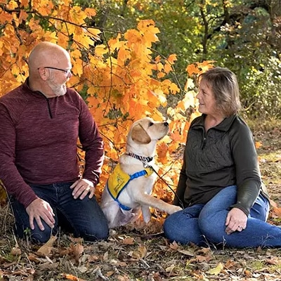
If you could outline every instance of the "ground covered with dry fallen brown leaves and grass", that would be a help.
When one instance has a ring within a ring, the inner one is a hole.
[[[268,221],[281,225],[281,126],[252,126],[261,174],[272,200]],[[0,209],[0,280],[281,280],[280,249],[183,246],[162,235],[162,214],[112,230],[105,242],[60,233],[44,245],[13,235],[7,205]]]

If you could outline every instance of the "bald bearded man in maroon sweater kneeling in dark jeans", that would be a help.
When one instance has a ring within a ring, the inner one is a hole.
[[[46,242],[63,224],[85,240],[105,239],[107,221],[94,197],[103,139],[84,100],[66,87],[72,77],[70,55],[41,42],[30,53],[28,67],[25,84],[0,98],[0,178],[15,231]],[[78,138],[86,151],[81,177]]]

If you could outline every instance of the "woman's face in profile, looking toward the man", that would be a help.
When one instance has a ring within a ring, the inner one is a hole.
[[[213,91],[204,78],[200,81],[199,93],[197,93],[196,98],[199,101],[199,112],[206,115],[218,114],[218,108],[216,107],[216,100]]]

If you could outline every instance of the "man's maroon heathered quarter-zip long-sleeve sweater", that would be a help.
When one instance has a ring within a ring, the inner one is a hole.
[[[0,179],[8,194],[27,207],[37,198],[28,184],[76,181],[77,140],[86,151],[83,178],[96,185],[103,139],[79,94],[46,98],[25,84],[0,98]]]

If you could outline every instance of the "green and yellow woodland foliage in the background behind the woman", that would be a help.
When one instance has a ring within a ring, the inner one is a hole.
[[[215,60],[237,75],[247,116],[281,117],[280,0],[74,1],[97,8],[95,25],[105,34],[153,19],[161,32],[152,48],[177,55],[171,81],[183,85],[186,65]]]

